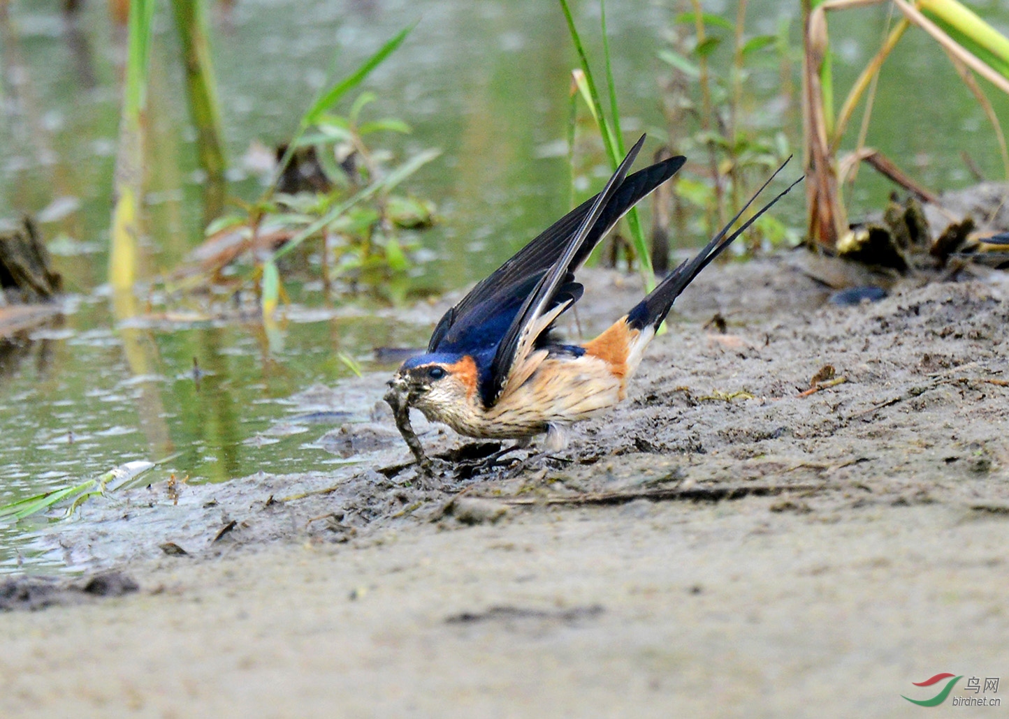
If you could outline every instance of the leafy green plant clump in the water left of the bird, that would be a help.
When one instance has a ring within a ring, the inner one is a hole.
[[[346,114],[333,111],[403,43],[410,29],[320,93],[294,137],[278,149],[277,166],[262,196],[242,205],[244,212],[219,218],[207,228],[209,243],[230,236],[237,244],[225,243],[204,269],[220,276],[225,265],[250,251],[255,265],[245,279],[258,280],[264,318],[284,294],[277,261],[307,241],[321,247],[327,285],[334,276],[376,281],[411,267],[415,245],[400,231],[429,226],[434,208],[396,191],[439,152],[425,150],[396,164],[389,153],[373,149],[374,136],[407,133],[410,127],[394,118],[365,119],[375,99],[372,93],[358,95]]]

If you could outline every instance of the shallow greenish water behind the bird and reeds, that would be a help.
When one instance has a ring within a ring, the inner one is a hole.
[[[661,135],[655,52],[675,12],[645,2],[610,5],[625,129]],[[60,324],[23,338],[0,359],[0,503],[134,460],[172,458],[149,481],[172,473],[196,482],[324,470],[335,460],[316,440],[342,422],[366,417],[359,409],[346,417],[306,416],[311,407],[293,396],[349,376],[337,352],[364,370],[390,368],[373,359],[372,349],[421,346],[430,328],[371,312],[384,305],[367,291],[328,307],[311,285],[297,294],[272,344],[256,322],[117,325],[101,285],[122,38],[104,3],[88,3],[76,27],[66,23],[61,6],[55,0],[14,3],[2,35],[0,217],[39,217],[72,295]],[[783,11],[770,1],[751,8],[755,32],[773,31]],[[714,3],[710,9],[722,10]],[[590,41],[597,17],[588,5],[582,10],[579,23]],[[1009,10],[998,3],[979,11],[1009,28]],[[838,87],[868,58],[884,18],[874,9],[831,19],[839,38]],[[203,190],[170,20],[163,12],[158,18],[151,66],[151,237],[144,257],[150,276],[177,266],[199,242],[203,225]],[[233,165],[230,192],[250,199],[260,189],[243,168],[250,143],[282,141],[328,69],[349,72],[415,21],[407,43],[366,87],[378,95],[374,117],[402,117],[414,127],[410,136],[390,138],[393,149],[444,150],[408,186],[439,204],[439,226],[421,235],[431,259],[411,279],[415,290],[428,291],[479,278],[567,207],[560,141],[575,61],[558,7],[535,0],[423,6],[240,0],[227,12],[224,3],[215,7],[215,49]],[[773,87],[776,72],[772,67],[754,76],[758,95]],[[1009,116],[1009,103],[993,102]],[[983,112],[920,33],[905,38],[888,61],[875,118],[869,143],[928,186],[968,184],[962,152],[998,176]],[[601,160],[587,171],[605,174]],[[877,205],[888,191],[866,170],[856,204]],[[783,204],[779,216],[797,224],[801,202]],[[0,526],[0,572],[60,566],[24,549],[39,525]]]

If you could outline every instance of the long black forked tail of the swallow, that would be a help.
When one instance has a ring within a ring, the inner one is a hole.
[[[747,220],[743,225],[740,226],[738,230],[732,234],[727,234],[730,228],[736,224],[736,221],[745,213],[750,206],[753,204],[754,200],[757,199],[764,189],[771,184],[778,172],[785,168],[788,164],[788,160],[791,157],[782,162],[778,169],[774,170],[774,174],[767,178],[767,182],[760,187],[754,196],[747,201],[747,204],[743,206],[743,209],[737,213],[736,217],[728,221],[728,224],[721,228],[721,231],[715,235],[710,242],[705,245],[704,249],[697,253],[693,259],[684,260],[676,269],[670,272],[659,285],[649,292],[648,296],[642,299],[635,308],[628,313],[627,323],[632,330],[644,330],[645,328],[656,329],[662,324],[662,321],[666,319],[666,315],[669,314],[670,308],[673,307],[673,303],[676,297],[680,295],[690,282],[693,281],[694,277],[700,274],[700,271],[708,265],[708,263],[721,254],[726,247],[733,244],[733,241],[743,234],[761,215],[770,210],[775,203],[781,200],[783,197],[788,195],[788,192],[794,188],[796,185],[802,182],[805,175],[799,177],[794,183],[789,185],[783,192],[779,193],[777,197],[774,198],[767,205],[762,207],[757,213],[754,214],[749,220]],[[726,236],[727,235],[727,236]]]

